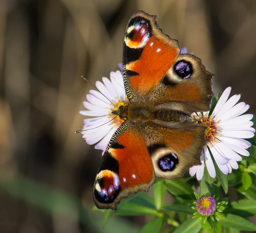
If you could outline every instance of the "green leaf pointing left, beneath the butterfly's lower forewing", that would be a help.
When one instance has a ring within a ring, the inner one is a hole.
[[[132,202],[122,204],[122,206],[117,208],[115,214],[122,216],[151,215],[157,217],[163,215],[163,213],[158,213],[154,208],[149,208]]]

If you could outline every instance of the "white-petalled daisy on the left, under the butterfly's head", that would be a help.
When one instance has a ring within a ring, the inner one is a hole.
[[[83,130],[85,131],[81,133],[87,144],[92,145],[98,142],[95,149],[103,150],[103,155],[112,135],[123,123],[119,116],[111,112],[121,105],[128,104],[129,101],[125,93],[122,73],[119,70],[110,73],[110,80],[103,77],[102,81],[103,83],[96,81],[99,91],[90,90],[90,94],[86,95],[87,101],[83,104],[88,110],[80,111],[80,113],[93,117],[84,119]]]

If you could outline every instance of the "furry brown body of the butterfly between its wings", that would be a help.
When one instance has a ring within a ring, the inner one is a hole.
[[[157,109],[152,104],[132,102],[125,106],[120,106],[118,110],[113,111],[113,114],[119,116],[123,120],[130,120],[134,122],[147,121],[185,121],[186,116],[174,110]]]

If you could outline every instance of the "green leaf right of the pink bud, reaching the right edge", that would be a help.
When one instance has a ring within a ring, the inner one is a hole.
[[[249,217],[256,215],[256,200],[243,199],[239,201],[232,201],[225,213],[234,213],[239,216]]]

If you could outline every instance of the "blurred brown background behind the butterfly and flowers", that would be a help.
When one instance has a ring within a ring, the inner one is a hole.
[[[101,151],[74,133],[91,89],[81,75],[95,83],[118,69],[139,9],[215,73],[215,93],[232,86],[256,113],[255,0],[0,0],[0,233],[124,233],[147,221],[102,229],[91,210]]]

